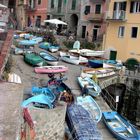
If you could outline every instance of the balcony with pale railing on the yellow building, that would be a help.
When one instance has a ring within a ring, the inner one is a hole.
[[[106,19],[111,21],[126,21],[126,11],[117,10],[117,11],[108,11],[106,13]]]

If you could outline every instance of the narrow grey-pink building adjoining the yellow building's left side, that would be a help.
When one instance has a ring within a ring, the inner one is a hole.
[[[82,0],[78,36],[90,42],[103,41],[108,0]]]

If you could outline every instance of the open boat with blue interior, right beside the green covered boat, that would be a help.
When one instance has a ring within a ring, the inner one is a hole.
[[[58,58],[49,54],[48,52],[41,51],[39,55],[46,60],[49,65],[56,66],[58,64]]]

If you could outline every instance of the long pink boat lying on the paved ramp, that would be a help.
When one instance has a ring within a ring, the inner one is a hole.
[[[68,67],[65,66],[42,66],[35,67],[36,73],[62,73],[68,71]]]

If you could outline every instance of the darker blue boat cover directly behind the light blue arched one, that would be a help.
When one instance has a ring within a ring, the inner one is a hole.
[[[32,94],[33,95],[39,95],[39,94],[44,94],[49,98],[49,100],[53,103],[54,100],[56,99],[56,96],[54,93],[47,87],[32,87]]]

